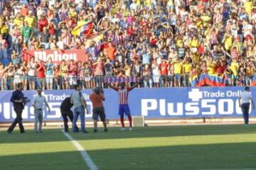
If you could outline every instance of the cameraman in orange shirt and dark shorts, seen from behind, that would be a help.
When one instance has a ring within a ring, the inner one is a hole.
[[[100,115],[100,120],[104,125],[104,131],[107,132],[107,122],[103,101],[105,101],[104,91],[98,87],[92,89],[90,100],[92,101],[92,119],[94,120],[94,132],[97,132],[97,121]]]

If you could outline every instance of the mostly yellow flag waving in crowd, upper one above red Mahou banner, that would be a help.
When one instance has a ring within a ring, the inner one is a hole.
[[[72,35],[87,35],[90,32],[90,29],[92,28],[92,22],[91,21],[81,21],[78,23],[78,26],[76,26],[71,34]]]

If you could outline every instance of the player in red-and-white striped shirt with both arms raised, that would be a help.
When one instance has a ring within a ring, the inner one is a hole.
[[[116,88],[116,87],[112,86],[111,84],[108,84],[108,86],[110,88],[114,89],[115,91],[118,91],[119,115],[120,115],[120,121],[122,124],[121,130],[125,130],[125,128],[124,128],[124,113],[125,113],[125,115],[127,115],[128,120],[129,120],[129,126],[130,126],[129,130],[132,130],[132,116],[131,116],[131,112],[129,110],[129,105],[128,105],[128,94],[129,94],[129,91],[132,91],[132,89],[137,87],[138,84],[134,84],[134,86],[132,86],[132,87],[126,87],[125,83],[121,83],[119,88]]]

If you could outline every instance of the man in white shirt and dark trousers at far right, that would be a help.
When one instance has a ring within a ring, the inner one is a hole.
[[[250,101],[252,103],[252,109],[255,109],[255,104],[252,99],[252,93],[250,92],[250,87],[246,86],[245,91],[242,91],[239,97],[239,106],[240,108],[242,108],[242,115],[245,120],[245,124],[249,123]]]

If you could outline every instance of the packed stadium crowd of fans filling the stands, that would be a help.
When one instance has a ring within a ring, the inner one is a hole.
[[[256,74],[255,0],[1,0],[0,11],[0,60],[10,61],[0,64],[1,90],[107,87],[104,77],[180,87],[199,74],[250,86]],[[73,35],[82,21],[92,21],[89,33]],[[100,48],[86,47],[97,33]],[[22,60],[42,49],[84,49],[89,60]]]

